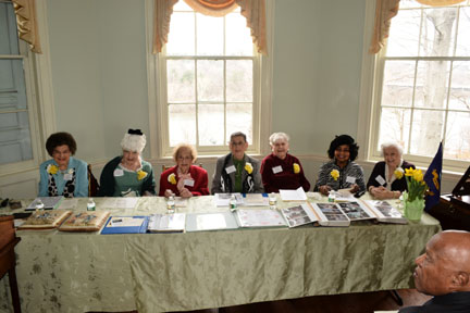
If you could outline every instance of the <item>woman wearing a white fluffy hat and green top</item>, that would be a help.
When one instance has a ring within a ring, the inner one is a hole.
[[[104,166],[100,177],[100,197],[140,197],[156,193],[153,168],[140,156],[146,136],[140,129],[128,129],[121,140],[123,155]]]

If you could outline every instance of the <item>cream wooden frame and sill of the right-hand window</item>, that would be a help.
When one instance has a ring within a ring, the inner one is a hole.
[[[371,162],[382,161],[380,149],[378,149],[382,86],[385,68],[386,43],[376,54],[369,53],[369,45],[372,38],[375,18],[375,1],[366,1],[363,49],[362,49],[362,71],[361,90],[358,118],[358,140],[366,143],[366,149],[360,152],[360,158]],[[393,18],[392,18],[393,27]],[[391,58],[396,59],[396,58]],[[417,58],[419,59],[419,58]],[[458,59],[458,58],[456,58]],[[447,114],[448,109],[445,109]],[[445,125],[444,125],[445,127]],[[445,129],[444,129],[445,130]],[[437,152],[436,147],[436,152]],[[403,159],[412,162],[418,167],[426,168],[431,163],[432,156],[421,156],[416,154],[405,154]],[[443,171],[448,173],[463,173],[469,166],[470,160],[443,159]]]

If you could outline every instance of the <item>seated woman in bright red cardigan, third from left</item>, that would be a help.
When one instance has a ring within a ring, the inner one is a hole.
[[[209,195],[207,171],[193,165],[196,159],[197,151],[193,146],[185,143],[176,146],[173,150],[176,165],[161,174],[159,196],[176,195],[189,198]]]

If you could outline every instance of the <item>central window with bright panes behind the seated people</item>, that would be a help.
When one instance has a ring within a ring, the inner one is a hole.
[[[158,55],[161,154],[180,142],[195,145],[200,154],[226,153],[237,130],[259,153],[261,59],[239,8],[211,17],[178,1]]]

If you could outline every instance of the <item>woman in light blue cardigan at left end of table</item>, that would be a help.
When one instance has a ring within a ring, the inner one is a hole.
[[[75,159],[76,142],[69,133],[55,133],[46,141],[51,160],[39,166],[39,197],[88,197],[87,163]]]

